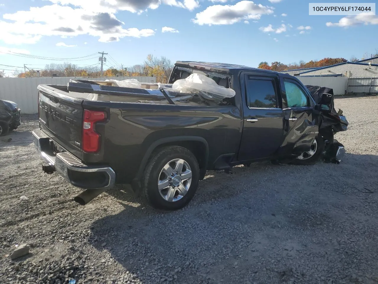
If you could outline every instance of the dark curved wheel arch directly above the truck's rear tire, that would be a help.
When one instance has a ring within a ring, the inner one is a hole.
[[[151,157],[154,156],[154,154],[160,151],[162,148],[166,148],[169,146],[180,146],[191,151],[194,154],[195,158],[197,159],[200,170],[206,171],[208,153],[206,153],[207,152],[206,145],[204,145],[203,142],[201,141],[167,142],[156,147],[155,150],[152,152]]]

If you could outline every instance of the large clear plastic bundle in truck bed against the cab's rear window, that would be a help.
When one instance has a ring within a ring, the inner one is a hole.
[[[206,100],[221,101],[224,98],[232,98],[235,91],[219,86],[214,80],[205,75],[193,73],[186,79],[175,81],[172,85],[175,92],[198,94]]]

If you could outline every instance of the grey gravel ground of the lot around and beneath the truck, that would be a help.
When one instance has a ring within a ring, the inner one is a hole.
[[[340,165],[208,172],[169,214],[127,190],[74,203],[79,189],[42,173],[24,116],[0,138],[0,283],[378,283],[378,97],[335,104],[350,123]]]

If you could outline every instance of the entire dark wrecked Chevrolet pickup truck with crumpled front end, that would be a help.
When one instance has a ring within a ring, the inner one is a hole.
[[[341,116],[325,119],[336,119],[333,95],[314,100],[297,78],[270,70],[178,61],[168,84],[72,80],[38,89],[33,135],[43,171],[86,189],[74,198],[80,204],[131,184],[154,208],[175,210],[206,170],[312,165],[326,144],[334,161],[345,153],[333,140]]]

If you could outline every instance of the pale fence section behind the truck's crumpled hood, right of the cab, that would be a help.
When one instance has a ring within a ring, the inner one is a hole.
[[[334,95],[345,95],[348,84],[347,77],[297,76],[296,78],[299,79],[304,85],[332,88]]]

